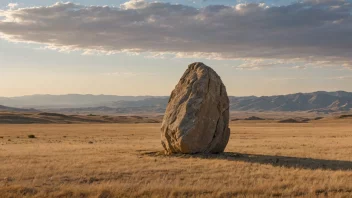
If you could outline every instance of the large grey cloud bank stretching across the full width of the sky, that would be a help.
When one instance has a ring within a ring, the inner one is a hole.
[[[0,11],[0,35],[86,54],[147,52],[352,68],[351,12],[352,4],[343,0],[204,8],[143,0],[120,7],[56,3]],[[241,66],[247,67],[256,66]]]

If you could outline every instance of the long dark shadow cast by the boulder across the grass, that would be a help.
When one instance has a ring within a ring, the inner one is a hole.
[[[269,164],[272,166],[287,168],[303,169],[323,169],[323,170],[347,170],[352,171],[352,161],[343,160],[325,160],[301,157],[273,156],[273,155],[256,155],[225,152],[219,154],[172,154],[166,155],[163,152],[145,152],[143,155],[151,157],[169,157],[169,158],[201,158],[201,159],[219,159],[227,161],[241,161],[258,164]]]

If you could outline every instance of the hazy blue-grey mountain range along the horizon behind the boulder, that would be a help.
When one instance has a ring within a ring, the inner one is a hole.
[[[61,113],[163,113],[167,96],[33,95],[0,98],[0,105]],[[345,91],[276,96],[230,96],[231,111],[350,111],[352,93]]]

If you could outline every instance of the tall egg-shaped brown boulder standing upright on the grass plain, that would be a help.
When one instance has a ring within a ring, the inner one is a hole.
[[[230,137],[229,98],[216,72],[193,63],[172,91],[161,127],[167,153],[219,153]]]

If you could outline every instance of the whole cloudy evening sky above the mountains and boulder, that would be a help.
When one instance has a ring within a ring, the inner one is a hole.
[[[192,62],[229,95],[352,91],[348,0],[0,0],[0,96],[169,95]]]

